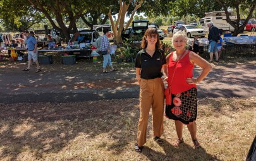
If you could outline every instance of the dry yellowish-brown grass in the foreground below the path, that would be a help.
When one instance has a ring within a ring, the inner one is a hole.
[[[0,104],[0,160],[244,160],[256,133],[256,98],[198,100],[193,150],[172,145],[174,122],[164,118],[163,146],[152,140],[152,118],[142,153],[133,150],[138,99],[67,104]]]

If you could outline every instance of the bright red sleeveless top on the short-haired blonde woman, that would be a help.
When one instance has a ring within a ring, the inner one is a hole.
[[[173,83],[171,85],[171,93],[173,94],[185,92],[186,90],[190,90],[193,87],[197,88],[197,85],[195,84],[189,85],[188,83],[186,83],[186,78],[193,77],[194,68],[194,64],[190,62],[189,54],[190,51],[182,59],[180,59],[180,62],[177,64],[174,78],[173,72],[177,62],[173,61],[173,53],[171,53],[169,57],[168,84],[170,83],[169,81],[171,81],[171,78],[173,78]]]

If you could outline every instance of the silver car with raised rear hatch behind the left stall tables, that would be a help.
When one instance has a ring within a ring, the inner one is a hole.
[[[77,57],[90,57],[90,46],[97,47],[97,52],[101,47],[101,35],[95,30],[81,30],[76,32],[69,40],[70,46],[80,49],[80,51],[70,52]]]

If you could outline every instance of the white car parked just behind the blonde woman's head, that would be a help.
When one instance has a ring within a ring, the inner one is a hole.
[[[178,32],[178,30],[185,30],[188,37],[194,37],[195,35],[198,35],[198,37],[205,37],[205,30],[198,28],[195,25],[179,25],[178,27],[174,28],[173,33]]]

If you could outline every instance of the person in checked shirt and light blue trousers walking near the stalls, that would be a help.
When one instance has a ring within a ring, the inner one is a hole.
[[[103,73],[108,73],[107,71],[107,64],[111,67],[111,71],[117,71],[117,69],[114,69],[112,62],[111,62],[111,56],[110,56],[110,43],[107,36],[109,35],[109,29],[104,28],[103,30],[104,35],[102,36],[101,40],[101,54],[103,56]]]

